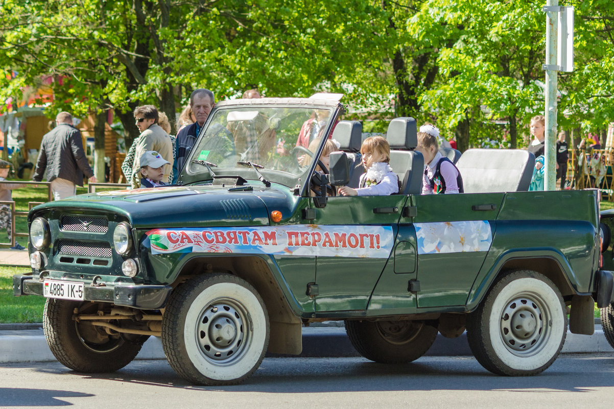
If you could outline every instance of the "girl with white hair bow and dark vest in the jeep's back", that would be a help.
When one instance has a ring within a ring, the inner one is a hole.
[[[439,152],[439,130],[432,123],[425,123],[418,132],[416,150],[424,157],[422,194],[462,193],[462,176],[459,169]]]

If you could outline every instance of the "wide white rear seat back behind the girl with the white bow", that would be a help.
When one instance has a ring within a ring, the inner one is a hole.
[[[468,149],[456,167],[465,193],[529,190],[535,155],[523,149]]]

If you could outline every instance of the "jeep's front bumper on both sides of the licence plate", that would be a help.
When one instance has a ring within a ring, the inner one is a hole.
[[[17,274],[13,276],[14,295],[42,295],[43,281],[33,276]],[[113,303],[141,310],[163,308],[171,294],[171,286],[152,286],[136,284],[85,285],[84,300]]]

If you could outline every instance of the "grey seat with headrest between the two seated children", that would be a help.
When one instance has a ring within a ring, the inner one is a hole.
[[[418,146],[416,120],[410,117],[391,120],[386,132],[390,144],[390,166],[401,181],[399,193],[402,195],[419,195],[422,193],[422,175],[424,174],[424,157],[414,151]]]

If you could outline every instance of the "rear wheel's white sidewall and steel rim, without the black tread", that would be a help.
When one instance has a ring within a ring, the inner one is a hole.
[[[489,316],[497,357],[516,370],[548,364],[561,348],[564,313],[558,295],[545,282],[534,278],[510,282],[495,299]]]

